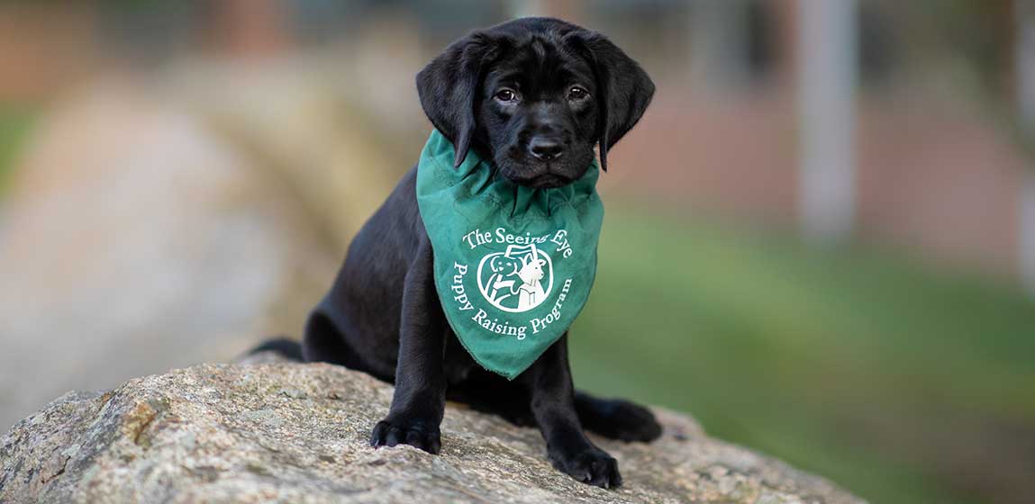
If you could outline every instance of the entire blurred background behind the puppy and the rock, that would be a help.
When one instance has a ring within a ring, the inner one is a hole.
[[[426,139],[413,76],[534,14],[657,84],[601,180],[580,386],[874,502],[1028,502],[1026,0],[2,2],[0,428],[299,335]]]

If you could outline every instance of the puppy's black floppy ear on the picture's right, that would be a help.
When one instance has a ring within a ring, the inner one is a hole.
[[[624,51],[591,31],[571,33],[589,59],[596,78],[600,168],[608,170],[608,150],[632,129],[654,96],[654,83]]]

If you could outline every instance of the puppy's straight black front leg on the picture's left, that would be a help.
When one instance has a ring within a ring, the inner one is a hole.
[[[395,393],[388,416],[374,427],[371,446],[404,443],[438,453],[446,394],[445,316],[435,294],[434,256],[427,237],[406,273],[402,317]]]

